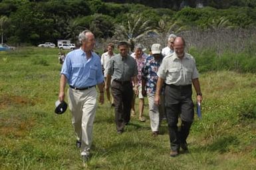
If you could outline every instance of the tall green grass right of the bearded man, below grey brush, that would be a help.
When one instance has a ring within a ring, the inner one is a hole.
[[[195,57],[199,72],[231,70],[235,72],[256,72],[256,48],[255,44],[248,45],[242,52],[225,50],[216,54],[215,48],[197,50],[190,48],[189,52]]]

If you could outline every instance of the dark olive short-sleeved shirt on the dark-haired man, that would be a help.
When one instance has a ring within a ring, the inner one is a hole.
[[[108,62],[107,74],[112,76],[112,80],[130,81],[133,76],[138,75],[136,60],[129,55],[122,57],[116,54]]]

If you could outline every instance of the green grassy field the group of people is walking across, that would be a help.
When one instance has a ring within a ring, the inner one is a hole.
[[[57,49],[0,52],[0,169],[255,169],[256,75],[201,74],[203,119],[192,125],[190,153],[172,158],[167,124],[150,135],[132,118],[116,134],[114,109],[99,105],[92,158],[82,164],[70,112],[54,114],[61,65]],[[136,104],[138,108],[138,104]]]

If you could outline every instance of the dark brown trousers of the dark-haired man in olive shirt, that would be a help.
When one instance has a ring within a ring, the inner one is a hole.
[[[130,122],[130,110],[132,107],[132,83],[112,81],[112,96],[114,97],[114,109],[116,129],[124,131],[124,126]]]

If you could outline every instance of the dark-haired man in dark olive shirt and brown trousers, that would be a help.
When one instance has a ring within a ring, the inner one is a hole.
[[[132,81],[134,92],[138,94],[138,69],[132,56],[128,55],[128,42],[118,43],[119,54],[110,58],[107,66],[106,88],[110,86],[114,97],[116,130],[124,132],[124,126],[130,122],[130,110],[132,106]]]

